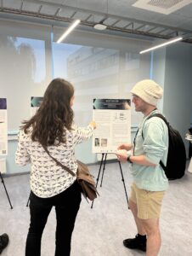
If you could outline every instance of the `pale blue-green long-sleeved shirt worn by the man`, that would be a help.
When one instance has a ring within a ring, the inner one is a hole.
[[[160,113],[158,110],[153,113]],[[139,189],[162,191],[168,187],[165,172],[160,166],[160,160],[166,166],[168,153],[168,129],[166,123],[158,117],[144,117],[139,125],[135,138],[134,155],[144,155],[156,166],[132,166],[133,181]],[[147,119],[147,120],[146,120]],[[143,133],[143,134],[142,134]]]

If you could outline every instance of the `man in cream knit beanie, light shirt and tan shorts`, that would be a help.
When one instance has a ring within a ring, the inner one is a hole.
[[[160,160],[167,164],[168,131],[165,122],[158,117],[156,108],[162,97],[162,88],[155,81],[144,79],[133,86],[132,102],[135,110],[144,114],[133,145],[121,144],[117,149],[119,160],[132,164],[133,184],[129,208],[133,213],[138,234],[123,241],[125,247],[146,251],[147,256],[158,255],[161,247],[159,218],[161,202],[168,187]],[[132,150],[132,154],[129,154]],[[129,152],[128,152],[129,151]]]

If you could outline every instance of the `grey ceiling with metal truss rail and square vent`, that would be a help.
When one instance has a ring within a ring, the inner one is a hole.
[[[133,4],[150,3],[140,9]],[[96,30],[104,24],[104,33],[124,36],[170,39],[182,36],[192,44],[192,1],[189,0],[0,0],[0,18],[27,20],[62,26],[80,19],[81,27]],[[170,3],[172,6],[170,8]],[[184,5],[179,7],[178,5]],[[167,5],[169,4],[169,6]],[[171,12],[168,15],[154,11]],[[177,10],[174,10],[178,6]],[[174,7],[172,9],[172,7]],[[151,10],[149,10],[151,9]]]

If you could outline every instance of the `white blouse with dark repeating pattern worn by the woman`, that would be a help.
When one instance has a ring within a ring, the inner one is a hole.
[[[66,144],[49,146],[48,151],[55,159],[76,173],[76,144],[82,143],[92,135],[93,127],[90,125],[83,128],[73,126],[72,131],[66,131]],[[42,198],[58,195],[74,183],[76,177],[57,166],[40,143],[32,142],[31,130],[27,134],[21,130],[18,139],[15,162],[20,166],[31,163],[31,190],[35,195]]]

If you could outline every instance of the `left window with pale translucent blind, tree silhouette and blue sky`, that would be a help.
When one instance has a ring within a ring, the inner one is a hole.
[[[45,88],[45,42],[0,34],[0,55],[1,96],[9,102],[8,131],[17,131],[31,116],[31,96],[42,96]]]

